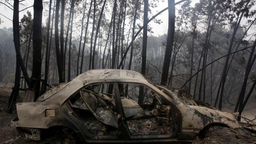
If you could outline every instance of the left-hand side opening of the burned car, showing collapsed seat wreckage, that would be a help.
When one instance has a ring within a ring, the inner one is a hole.
[[[94,84],[80,90],[69,104],[76,116],[84,123],[90,134],[118,134],[117,114],[114,89],[108,93],[113,84]]]

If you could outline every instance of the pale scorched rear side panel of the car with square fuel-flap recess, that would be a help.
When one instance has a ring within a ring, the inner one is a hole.
[[[16,104],[18,120],[12,126],[24,128],[50,128],[67,125],[57,105],[46,102],[26,102]]]

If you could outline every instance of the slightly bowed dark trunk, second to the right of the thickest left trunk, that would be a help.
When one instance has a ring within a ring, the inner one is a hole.
[[[62,71],[62,61],[60,57],[60,44],[59,44],[59,10],[60,10],[60,0],[56,0],[56,11],[55,11],[55,49],[56,49],[56,60],[58,66],[59,82],[64,82],[63,80],[63,71]]]

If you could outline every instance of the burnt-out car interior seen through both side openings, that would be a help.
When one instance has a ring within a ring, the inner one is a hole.
[[[76,116],[93,135],[118,134],[116,92],[131,135],[169,134],[172,131],[170,105],[147,86],[119,83],[86,86],[69,100]]]

